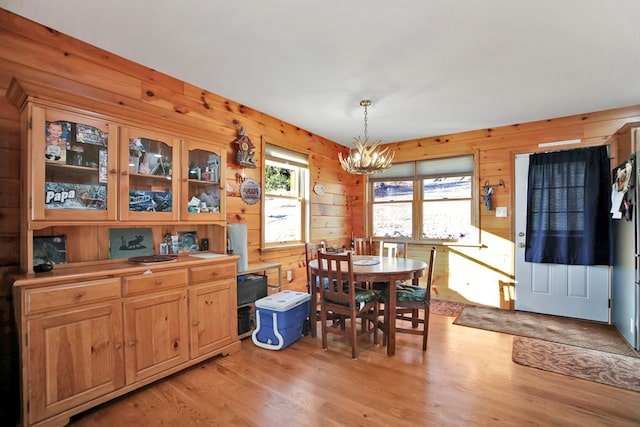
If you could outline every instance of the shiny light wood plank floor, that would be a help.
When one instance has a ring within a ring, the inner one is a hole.
[[[242,343],[76,417],[73,426],[638,426],[640,393],[516,365],[513,337],[431,316],[429,349],[399,335],[396,356],[342,338],[281,351]]]

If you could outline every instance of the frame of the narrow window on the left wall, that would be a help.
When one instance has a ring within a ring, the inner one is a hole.
[[[307,233],[309,229],[309,191],[310,191],[310,170],[309,170],[309,155],[301,153],[289,148],[277,146],[273,143],[263,143],[263,161],[262,161],[262,248],[271,249],[286,246],[295,246],[304,244],[307,240]],[[273,163],[273,164],[272,164]],[[267,165],[271,164],[276,167],[292,167],[298,169],[297,179],[295,186],[297,187],[297,195],[277,195],[267,193],[266,185],[266,170]],[[266,235],[266,217],[267,217],[267,197],[276,197],[279,199],[296,200],[300,203],[300,239],[299,240],[287,240],[287,241],[267,241]]]

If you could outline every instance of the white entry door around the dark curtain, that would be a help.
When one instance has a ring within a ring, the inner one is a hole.
[[[609,266],[537,264],[524,260],[529,154],[515,161],[516,310],[609,322]]]

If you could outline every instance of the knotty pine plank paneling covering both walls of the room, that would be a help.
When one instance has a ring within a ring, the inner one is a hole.
[[[231,190],[227,197],[227,220],[247,224],[250,262],[282,263],[283,282],[286,282],[286,271],[292,270],[293,281],[286,283],[286,287],[304,289],[304,249],[261,250],[261,205],[243,203],[238,187],[242,175],[261,182],[262,171],[240,169],[235,165],[231,144],[237,132],[234,120],[244,127],[258,147],[258,159],[262,154],[259,151],[262,140],[309,154],[311,183],[321,183],[326,188],[321,196],[311,194],[311,240],[325,239],[329,244],[343,246],[348,244],[352,233],[365,234],[366,178],[350,176],[340,169],[336,156],[344,148],[336,143],[4,10],[0,10],[0,46],[2,91],[12,77],[62,90],[73,90],[70,86],[77,84],[87,90],[87,96],[111,102],[116,107],[143,105],[172,126],[195,129],[204,138],[228,141],[227,184]],[[132,109],[127,114],[135,118]],[[640,106],[392,143],[397,162],[475,154],[478,159],[476,184],[479,188],[485,182],[492,184],[493,205],[508,210],[506,218],[496,218],[495,211],[484,209],[479,199],[479,243],[486,248],[441,247],[436,287],[449,299],[502,306],[500,287],[514,279],[515,154],[539,151],[539,143],[557,140],[582,139],[581,144],[571,148],[605,144],[624,123],[636,120],[640,120]],[[17,263],[19,248],[18,113],[4,97],[0,97],[0,137],[0,265],[11,266]],[[499,182],[504,185],[498,186]],[[426,246],[412,245],[410,253],[425,257]],[[275,280],[270,277],[271,282]]]

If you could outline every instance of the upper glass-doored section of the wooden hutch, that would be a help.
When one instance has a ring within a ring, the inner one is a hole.
[[[52,91],[16,80],[7,90],[21,112],[24,272],[33,272],[39,236],[66,236],[67,263],[109,261],[110,228],[151,228],[155,253],[181,231],[226,253],[227,147],[219,137],[178,134],[157,117],[138,113],[144,123],[135,122],[108,103],[103,113],[95,100]]]

